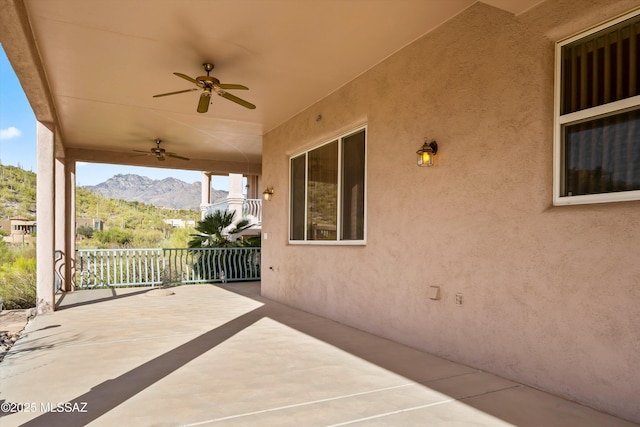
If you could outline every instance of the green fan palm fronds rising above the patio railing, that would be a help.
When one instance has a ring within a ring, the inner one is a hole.
[[[213,214],[205,216],[202,221],[198,221],[195,226],[198,234],[191,235],[193,238],[189,241],[189,247],[228,248],[242,246],[241,241],[232,241],[230,237],[253,224],[247,219],[242,219],[233,229],[226,231],[233,224],[235,214],[233,211],[215,211]]]

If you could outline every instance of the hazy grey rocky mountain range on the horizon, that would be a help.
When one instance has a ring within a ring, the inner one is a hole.
[[[156,180],[134,174],[115,175],[98,185],[84,188],[105,197],[136,201],[173,209],[200,209],[200,182],[188,184],[176,178]],[[212,190],[211,200],[227,197],[227,192]]]

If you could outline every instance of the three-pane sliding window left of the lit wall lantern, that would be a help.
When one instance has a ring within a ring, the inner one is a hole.
[[[291,158],[291,243],[364,243],[365,131]]]

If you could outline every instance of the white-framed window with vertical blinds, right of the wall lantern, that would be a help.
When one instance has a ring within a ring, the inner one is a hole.
[[[638,11],[556,47],[554,204],[640,200]]]

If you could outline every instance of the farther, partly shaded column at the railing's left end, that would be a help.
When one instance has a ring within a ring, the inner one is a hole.
[[[64,264],[64,290],[76,290],[76,162],[67,160],[65,163],[65,221],[67,238],[65,241],[66,262]]]

